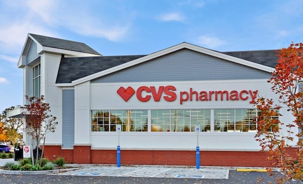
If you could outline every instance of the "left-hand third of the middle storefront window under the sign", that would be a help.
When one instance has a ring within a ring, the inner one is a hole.
[[[170,110],[151,110],[151,131],[170,131]]]

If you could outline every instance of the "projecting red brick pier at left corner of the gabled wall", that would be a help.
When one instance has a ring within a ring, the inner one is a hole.
[[[74,146],[74,163],[89,164],[90,163],[90,147],[91,146]]]

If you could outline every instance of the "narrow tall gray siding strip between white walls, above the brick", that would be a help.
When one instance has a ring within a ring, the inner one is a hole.
[[[75,140],[74,89],[62,90],[62,148],[73,148]]]

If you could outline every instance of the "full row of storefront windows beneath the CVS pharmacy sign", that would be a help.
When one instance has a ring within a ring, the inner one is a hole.
[[[211,119],[214,124],[211,124]],[[150,129],[160,132],[189,132],[200,125],[200,131],[210,132],[249,132],[257,131],[257,109],[172,109],[150,110]],[[277,116],[270,117],[273,120]],[[91,111],[91,131],[116,131],[117,124],[122,131],[142,132],[148,130],[147,110],[95,110]],[[277,128],[278,123],[269,131]]]

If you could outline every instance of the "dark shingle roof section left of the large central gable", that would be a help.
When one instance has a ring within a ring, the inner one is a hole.
[[[64,56],[62,56],[56,83],[70,83],[73,80],[127,63],[143,56],[145,55],[73,58],[64,58]]]

